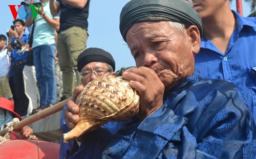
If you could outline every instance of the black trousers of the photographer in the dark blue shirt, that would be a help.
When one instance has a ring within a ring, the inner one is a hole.
[[[25,64],[13,65],[13,84],[16,95],[16,102],[14,102],[14,111],[20,116],[26,116],[28,111],[29,99],[25,94],[23,68]]]

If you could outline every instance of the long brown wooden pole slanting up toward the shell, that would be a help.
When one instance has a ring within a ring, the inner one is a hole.
[[[56,104],[54,104],[52,107],[46,108],[44,110],[39,111],[38,113],[31,115],[29,117],[27,117],[26,119],[16,123],[13,125],[13,129],[14,130],[18,130],[26,125],[32,124],[33,122],[36,122],[40,119],[44,119],[47,116],[50,116],[54,113],[57,113],[59,111],[61,111],[65,105],[65,103],[67,102],[67,100],[69,100],[70,98],[63,100],[61,102],[58,102]],[[3,129],[0,130],[0,136],[4,136],[7,133],[7,129]]]

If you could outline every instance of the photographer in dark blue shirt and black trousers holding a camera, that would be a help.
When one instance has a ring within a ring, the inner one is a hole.
[[[13,21],[14,28],[9,29],[8,51],[11,51],[11,75],[13,75],[14,111],[20,116],[27,115],[29,100],[25,94],[23,68],[26,64],[28,52],[18,53],[18,50],[28,43],[29,34],[25,33],[25,22],[21,19]]]

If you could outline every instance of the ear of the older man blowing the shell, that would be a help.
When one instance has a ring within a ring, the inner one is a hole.
[[[190,25],[187,29],[187,34],[189,36],[192,51],[194,54],[197,54],[200,50],[201,37],[200,32],[196,25]]]

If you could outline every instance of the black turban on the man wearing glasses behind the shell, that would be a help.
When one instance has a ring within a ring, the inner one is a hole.
[[[91,47],[82,51],[82,53],[77,58],[78,71],[80,72],[81,69],[90,62],[107,63],[112,66],[113,71],[115,71],[115,60],[109,52],[103,49]]]

